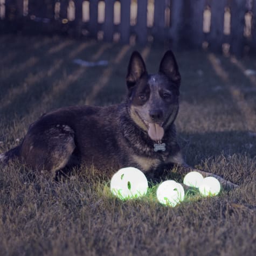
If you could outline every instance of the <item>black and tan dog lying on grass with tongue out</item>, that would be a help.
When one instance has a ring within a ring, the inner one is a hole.
[[[44,114],[31,124],[22,143],[1,154],[0,160],[18,158],[31,168],[50,172],[79,164],[112,174],[131,166],[157,175],[174,164],[191,171],[176,141],[181,75],[174,54],[167,51],[158,73],[148,74],[140,53],[133,52],[126,82],[128,96],[120,105],[67,107]]]

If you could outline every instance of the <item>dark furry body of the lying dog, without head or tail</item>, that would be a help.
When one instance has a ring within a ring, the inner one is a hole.
[[[32,168],[49,171],[84,163],[109,171],[133,166],[150,172],[179,154],[174,127],[170,135],[167,150],[155,152],[154,141],[130,120],[126,104],[70,107],[31,124],[17,155]]]

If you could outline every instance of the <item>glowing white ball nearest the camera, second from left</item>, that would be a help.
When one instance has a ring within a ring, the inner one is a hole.
[[[183,186],[175,181],[164,181],[156,191],[156,197],[161,204],[176,206],[184,199]]]

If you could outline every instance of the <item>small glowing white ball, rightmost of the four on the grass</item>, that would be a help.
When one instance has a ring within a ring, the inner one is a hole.
[[[199,186],[199,192],[203,196],[216,196],[220,192],[220,183],[215,177],[206,177]]]

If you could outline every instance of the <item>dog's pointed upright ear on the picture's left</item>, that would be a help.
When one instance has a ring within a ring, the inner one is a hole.
[[[128,65],[128,73],[126,76],[126,84],[128,89],[132,89],[143,74],[147,73],[146,65],[141,57],[141,54],[137,51],[132,53],[130,62]]]

